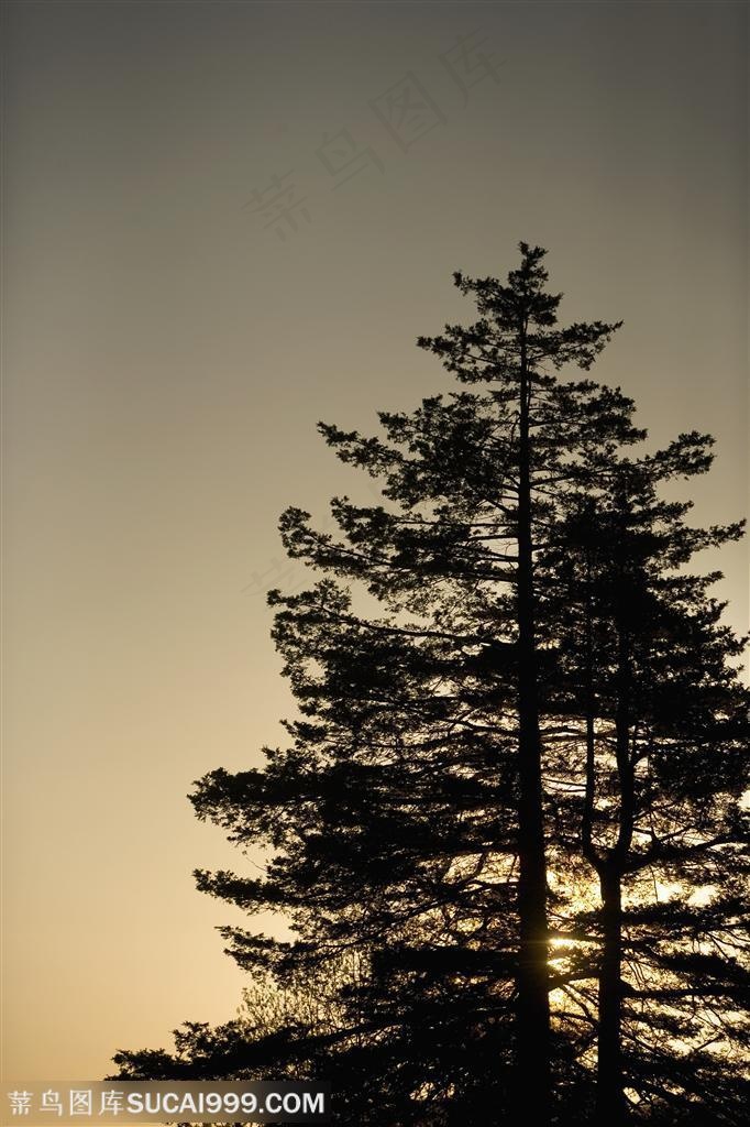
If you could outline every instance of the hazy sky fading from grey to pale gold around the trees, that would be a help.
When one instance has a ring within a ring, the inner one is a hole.
[[[625,321],[593,375],[716,436],[696,521],[747,512],[747,7],[5,19],[3,1058],[96,1079],[239,1004],[191,870],[242,859],[186,795],[283,738],[278,515],[357,488],[318,419],[450,389],[454,269],[546,246],[563,318]]]

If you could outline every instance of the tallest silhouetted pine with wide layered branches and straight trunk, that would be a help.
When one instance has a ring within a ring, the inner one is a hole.
[[[613,924],[607,904],[587,915],[578,902],[592,869],[601,878],[613,833],[628,840],[634,733],[642,740],[662,725],[671,748],[679,717],[672,701],[657,721],[651,674],[639,665],[635,676],[630,650],[613,650],[626,600],[639,583],[651,591],[658,570],[658,553],[614,535],[608,508],[622,451],[644,432],[619,390],[557,374],[590,367],[617,326],[560,327],[544,251],[520,249],[506,283],[455,275],[477,320],[420,338],[473,390],[381,414],[376,437],[321,424],[343,462],[378,479],[383,504],[334,498],[337,534],[300,509],[284,514],[287,552],[323,576],[270,596],[300,716],[262,770],[214,771],[193,799],[232,841],[271,852],[262,879],[200,872],[199,887],[250,912],[279,911],[296,933],[284,943],[225,929],[241,965],[291,985],[325,978],[355,952],[363,974],[337,979],[336,1029],[300,1020],[248,1039],[234,1024],[214,1038],[189,1027],[180,1059],[122,1054],[131,1075],[164,1074],[170,1059],[202,1075],[283,1059],[340,1083],[341,1122],[485,1125],[519,1101],[541,1124],[581,1122],[599,1022],[563,1008],[551,1022],[550,996],[578,987],[590,1014],[586,991],[596,1005],[598,983],[605,1030],[617,1030],[609,1091],[622,1099],[623,921]],[[598,554],[587,556],[590,544]],[[641,577],[627,596],[616,571],[626,560]],[[666,614],[676,589],[659,596]],[[644,654],[661,645],[658,630],[641,633]],[[657,649],[643,658],[652,673]],[[726,650],[713,654],[718,677]],[[724,724],[712,707],[704,743]],[[662,772],[650,783],[654,809],[666,764],[685,780],[678,761],[652,754]],[[570,793],[553,778],[565,772]],[[623,849],[633,863],[632,841]],[[551,961],[559,934],[581,943]],[[599,1033],[602,1084],[610,1040]],[[601,1099],[600,1117],[614,1106]]]

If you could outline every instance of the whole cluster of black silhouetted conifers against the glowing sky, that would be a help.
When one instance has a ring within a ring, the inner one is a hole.
[[[191,796],[269,857],[198,887],[296,938],[224,929],[267,1003],[120,1079],[328,1079],[339,1122],[383,1127],[742,1121],[743,640],[690,570],[742,525],[664,499],[709,437],[644,453],[630,399],[562,379],[618,325],[561,327],[520,249],[419,340],[463,387],[380,436],[321,424],[383,503],[334,498],[337,534],[283,515],[320,575],[269,596],[298,716]]]

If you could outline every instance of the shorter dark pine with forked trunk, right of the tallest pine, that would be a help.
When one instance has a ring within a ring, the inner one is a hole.
[[[709,1000],[738,1010],[750,986],[738,896],[738,879],[748,873],[741,801],[749,698],[734,668],[745,640],[722,624],[723,604],[708,595],[721,575],[686,571],[696,552],[736,540],[743,523],[688,527],[690,504],[667,503],[658,491],[673,478],[705,472],[711,445],[708,436],[694,433],[655,455],[610,459],[601,476],[605,487],[577,499],[562,526],[564,549],[547,561],[554,570],[547,605],[556,605],[566,666],[554,687],[557,694],[568,691],[568,707],[583,721],[581,850],[601,896],[597,1121],[602,1124],[628,1118],[626,1088],[651,1103],[672,1085],[686,1097],[686,1109],[694,1110],[696,1099],[703,1103],[705,1117],[716,1085],[708,1077],[697,1088],[689,1082],[697,1059],[694,1055],[686,1070],[678,1040],[695,1041],[705,1031]],[[560,709],[560,699],[551,707]],[[666,904],[653,903],[659,882],[672,886]],[[713,904],[697,911],[690,897],[708,886]],[[691,951],[680,937],[689,937]],[[709,980],[696,987],[702,973]],[[695,1006],[698,997],[706,1000],[703,1013]],[[660,999],[669,1004],[668,1017],[657,1012]],[[635,1019],[648,1033],[643,1028],[635,1033],[631,1020],[628,1036],[637,1036],[640,1046],[633,1056],[624,1046],[625,1011],[636,1000],[649,1003]],[[678,1013],[680,1000],[694,1006],[689,1020]],[[644,1048],[657,1030],[661,1047],[644,1067]],[[726,1048],[727,1038],[714,1035],[711,1040],[723,1040]],[[734,1029],[729,1039],[738,1036],[741,1042],[747,1030]],[[741,1044],[733,1049],[722,1065],[725,1091],[712,1121],[741,1121],[736,1100],[726,1093]],[[716,1072],[716,1059],[704,1061],[709,1073]],[[670,1115],[675,1119],[673,1107]]]

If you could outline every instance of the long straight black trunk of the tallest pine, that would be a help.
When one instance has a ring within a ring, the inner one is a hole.
[[[525,328],[524,328],[525,337]],[[534,627],[530,512],[529,378],[521,344],[518,488],[519,809],[517,1001],[519,1107],[534,1124],[550,1122],[550,986],[542,747]]]

